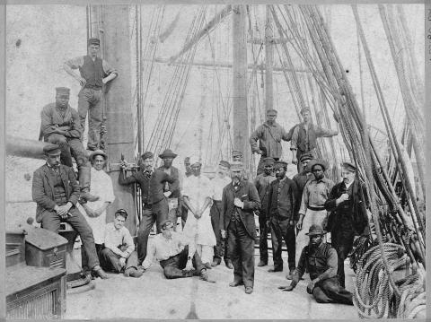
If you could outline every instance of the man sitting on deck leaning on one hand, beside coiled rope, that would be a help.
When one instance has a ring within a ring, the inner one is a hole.
[[[320,225],[313,224],[310,227],[307,233],[310,243],[303,248],[292,283],[280,286],[279,289],[293,291],[307,269],[312,280],[307,285],[307,292],[312,294],[318,303],[353,305],[352,293],[342,287],[337,279],[337,253],[329,244],[323,242],[325,233]]]

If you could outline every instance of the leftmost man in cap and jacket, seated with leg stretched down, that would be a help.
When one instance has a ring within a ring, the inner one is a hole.
[[[92,274],[108,278],[99,265],[92,228],[76,208],[79,187],[74,170],[60,163],[61,151],[57,144],[45,145],[43,152],[47,162],[34,171],[31,187],[32,199],[37,204],[36,222],[54,232],[59,231],[60,222],[70,223],[81,237]]]

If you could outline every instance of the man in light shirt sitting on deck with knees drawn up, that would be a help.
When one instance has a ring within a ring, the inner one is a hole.
[[[115,213],[114,222],[106,224],[105,248],[101,250],[101,266],[109,271],[125,276],[141,277],[142,271],[137,270],[137,254],[132,236],[124,222],[128,219],[128,213],[119,209]]]

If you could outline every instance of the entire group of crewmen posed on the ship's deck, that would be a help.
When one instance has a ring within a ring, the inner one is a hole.
[[[89,55],[65,64],[66,71],[83,85],[78,112],[68,105],[67,88],[57,88],[56,102],[41,112],[47,163],[34,172],[32,186],[37,222],[50,231],[58,231],[60,222],[69,222],[81,236],[84,270],[101,278],[108,278],[105,270],[140,277],[157,259],[167,278],[198,274],[214,282],[207,270],[223,258],[233,269],[229,285],[243,285],[251,294],[257,214],[258,266],[268,265],[268,231],[274,262],[268,272],[283,271],[282,240],[286,242],[286,278],[292,283],[282,286],[283,291],[292,291],[308,271],[307,291],[316,300],[352,304],[352,294],[345,290],[344,261],[355,237],[367,233],[365,188],[351,162],[342,164],[339,184],[325,177],[329,165],[315,158],[316,139],[338,132],[314,126],[308,108],[301,110],[303,122],[288,132],[277,124],[277,111],[267,111],[266,122],[250,138],[251,151],[261,155],[254,179],[240,151],[233,151],[232,161],[219,162],[215,178],[201,173],[198,156],[185,159],[186,172],[182,173],[172,166],[177,154],[171,150],[159,155],[163,165],[158,169],[154,169],[154,153],[145,152],[139,170],[128,175],[122,166],[119,173],[119,184],[137,183],[141,189],[136,250],[125,227],[127,211],[117,210],[114,222],[106,223],[106,209],[115,196],[110,176],[103,170],[108,155],[100,149],[98,109],[103,84],[118,73],[97,57],[99,46],[99,39],[89,39]],[[81,77],[74,74],[76,68]],[[87,111],[90,158],[82,143]],[[282,140],[291,142],[292,163],[298,169],[294,178],[287,178],[287,162],[280,160]],[[79,185],[71,168],[72,156]],[[149,241],[154,223],[157,235]],[[331,244],[323,241],[323,228],[330,231]]]

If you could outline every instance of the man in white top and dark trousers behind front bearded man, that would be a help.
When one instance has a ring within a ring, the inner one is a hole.
[[[229,176],[229,170],[231,165],[228,161],[220,161],[218,164],[218,170],[216,178],[211,180],[211,185],[213,187],[213,205],[211,205],[210,216],[211,224],[213,225],[213,231],[216,235],[217,244],[214,248],[214,259],[212,266],[219,265],[224,257],[224,264],[229,268],[233,269],[232,261],[229,259],[227,254],[226,243],[222,239],[222,233],[220,231],[220,218],[222,216],[222,195],[223,188],[231,183],[232,179]]]

